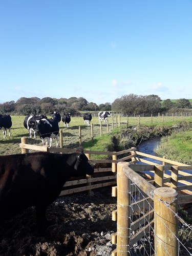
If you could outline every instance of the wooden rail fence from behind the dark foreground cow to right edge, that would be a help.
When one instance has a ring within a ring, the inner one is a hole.
[[[58,148],[49,146],[39,146],[28,144],[28,138],[23,137],[19,147],[22,153],[29,151],[44,151],[53,153],[72,153],[75,150],[68,148]],[[94,165],[94,175],[80,180],[66,182],[61,195],[68,195],[79,191],[91,191],[91,189],[116,184],[117,163],[122,161],[131,161],[134,164],[134,170],[147,179],[154,180],[156,187],[169,186],[176,189],[179,193],[180,204],[192,201],[192,175],[188,172],[192,166],[182,164],[176,161],[168,160],[165,157],[160,158],[136,151],[135,147],[120,152],[100,152],[84,150],[89,162]],[[106,156],[106,159],[96,159],[98,155]],[[151,158],[161,161],[162,164],[154,165],[152,161],[146,161],[141,157]],[[116,194],[117,187],[114,186],[112,194]]]

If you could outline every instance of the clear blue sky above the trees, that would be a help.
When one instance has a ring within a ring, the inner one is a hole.
[[[0,0],[0,102],[192,98],[192,0]]]

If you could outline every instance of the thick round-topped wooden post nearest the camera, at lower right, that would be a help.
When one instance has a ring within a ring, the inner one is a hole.
[[[173,188],[154,190],[155,255],[178,255],[178,200]]]

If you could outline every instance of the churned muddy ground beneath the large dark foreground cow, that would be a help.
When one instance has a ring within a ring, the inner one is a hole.
[[[112,211],[117,199],[111,187],[92,191],[92,196],[85,192],[52,203],[47,209],[51,225],[44,235],[37,231],[33,207],[0,222],[0,255],[111,255],[116,248],[111,235],[116,232]]]

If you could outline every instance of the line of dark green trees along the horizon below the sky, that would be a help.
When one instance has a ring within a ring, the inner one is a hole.
[[[141,113],[165,113],[168,111],[181,111],[181,109],[191,109],[191,103],[188,99],[178,99],[173,102],[170,99],[161,100],[158,95],[136,95],[129,94],[123,95],[114,100],[111,104],[106,102],[97,105],[94,102],[88,102],[83,97],[67,98],[38,98],[38,97],[22,97],[15,101],[8,101],[0,104],[1,114],[14,114],[14,115],[30,115],[30,114],[47,114],[53,111],[59,113],[70,113],[71,115],[78,116],[81,111],[114,111],[122,113],[123,115]]]

